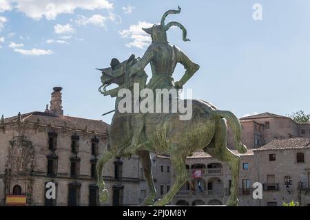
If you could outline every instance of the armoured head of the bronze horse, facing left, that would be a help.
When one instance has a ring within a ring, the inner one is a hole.
[[[101,87],[99,88],[99,91],[101,94],[105,96],[116,96],[118,89],[121,88],[128,88],[130,87],[130,84],[132,83],[132,79],[129,78],[128,74],[128,68],[130,68],[134,63],[136,63],[136,58],[134,54],[130,56],[130,58],[123,63],[118,61],[116,58],[112,58],[111,61],[111,67],[107,67],[104,69],[99,69],[102,72],[101,76]],[[106,88],[107,86],[111,84],[116,84],[118,85],[117,88],[111,89],[110,91],[107,91]],[[103,89],[103,91],[102,91]]]

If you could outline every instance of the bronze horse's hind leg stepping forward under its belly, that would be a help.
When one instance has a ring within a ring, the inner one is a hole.
[[[186,153],[184,153],[180,148],[178,148],[177,144],[172,144],[172,151],[170,154],[170,159],[172,162],[172,166],[174,170],[176,170],[176,181],[170,188],[169,192],[164,195],[163,199],[158,199],[153,206],[165,206],[169,203],[172,198],[176,195],[176,192],[180,190],[180,188],[187,181],[187,171],[185,166]]]

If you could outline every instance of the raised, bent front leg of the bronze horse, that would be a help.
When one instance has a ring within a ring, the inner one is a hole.
[[[102,170],[103,166],[113,158],[114,155],[111,153],[111,151],[106,149],[96,164],[97,186],[99,187],[99,199],[102,203],[107,201],[107,198],[109,197],[109,192],[107,192],[107,189],[105,188],[105,181],[103,181]]]

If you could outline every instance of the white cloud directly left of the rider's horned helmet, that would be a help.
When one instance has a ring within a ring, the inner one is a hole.
[[[133,41],[127,43],[127,47],[138,47],[145,48],[147,45],[152,43],[152,39],[149,34],[145,33],[142,28],[152,27],[152,23],[145,21],[139,21],[136,25],[130,25],[130,28],[127,30],[122,30],[119,32],[123,38],[130,38]]]

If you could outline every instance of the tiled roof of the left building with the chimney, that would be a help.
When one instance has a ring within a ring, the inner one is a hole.
[[[6,118],[5,124],[17,122],[18,116]],[[105,133],[109,127],[109,124],[102,120],[91,120],[86,118],[76,118],[71,116],[60,115],[56,116],[52,113],[45,113],[40,111],[34,111],[21,115],[21,122],[38,123],[39,125],[49,124],[54,127],[66,127],[67,129],[76,129],[81,131]]]

